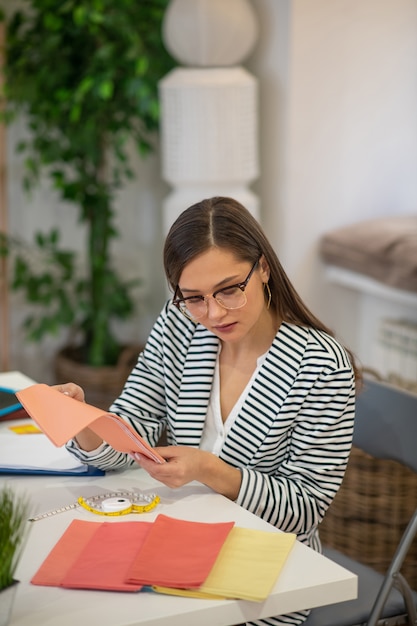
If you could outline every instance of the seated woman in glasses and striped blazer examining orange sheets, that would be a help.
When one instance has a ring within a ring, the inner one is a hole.
[[[295,292],[265,234],[231,198],[184,211],[164,265],[174,292],[111,411],[152,445],[137,462],[179,487],[197,480],[320,550],[317,526],[352,442],[353,358]],[[62,391],[83,399],[69,384]],[[102,469],[134,461],[85,430],[69,449]],[[299,624],[307,612],[258,624]]]

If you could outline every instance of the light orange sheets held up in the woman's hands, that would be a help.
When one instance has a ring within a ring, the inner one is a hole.
[[[16,393],[28,414],[56,446],[90,428],[119,452],[139,452],[157,463],[164,459],[119,416],[70,398],[45,384]]]

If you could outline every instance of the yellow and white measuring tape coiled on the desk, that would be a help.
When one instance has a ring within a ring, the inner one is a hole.
[[[80,496],[77,502],[68,504],[59,509],[40,513],[29,519],[36,522],[40,519],[53,517],[58,513],[64,513],[78,507],[86,509],[95,515],[128,515],[129,513],[147,513],[154,509],[160,502],[160,497],[155,493],[145,495],[133,491],[110,491],[97,496],[83,498]]]

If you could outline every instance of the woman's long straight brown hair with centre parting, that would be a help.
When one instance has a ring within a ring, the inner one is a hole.
[[[334,336],[298,295],[257,220],[233,198],[202,200],[183,211],[171,226],[165,240],[164,268],[174,292],[187,263],[212,247],[233,252],[237,259],[251,265],[263,255],[270,270],[270,307],[278,317]],[[354,356],[346,350],[359,379]]]

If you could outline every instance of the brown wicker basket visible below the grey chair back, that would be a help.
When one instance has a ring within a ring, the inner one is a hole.
[[[417,504],[417,476],[352,448],[345,479],[320,525],[323,544],[384,574]],[[417,542],[403,567],[417,589]]]

